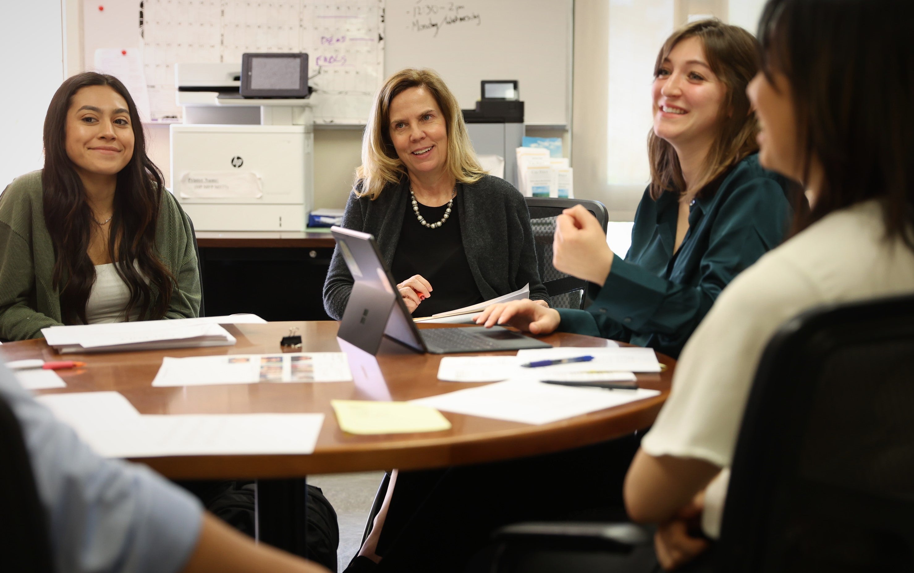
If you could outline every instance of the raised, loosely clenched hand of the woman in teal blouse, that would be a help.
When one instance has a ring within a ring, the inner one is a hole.
[[[590,211],[576,205],[556,218],[552,266],[558,271],[603,286],[612,266],[606,233]]]

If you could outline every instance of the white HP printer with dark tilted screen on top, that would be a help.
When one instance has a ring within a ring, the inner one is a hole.
[[[308,56],[243,58],[177,64],[172,190],[197,230],[303,231],[314,207]]]

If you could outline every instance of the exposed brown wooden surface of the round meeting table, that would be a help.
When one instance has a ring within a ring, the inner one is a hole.
[[[278,353],[282,352],[280,339],[292,326],[299,328],[303,340],[302,349],[296,352],[340,350],[335,322],[230,324],[226,328],[238,339],[238,344],[232,346],[65,355],[65,359],[85,361],[87,366],[58,370],[67,387],[42,393],[116,390],[143,414],[323,412],[324,427],[310,455],[206,455],[136,460],[172,479],[275,479],[314,473],[410,470],[491,462],[609,440],[642,430],[654,422],[669,392],[675,366],[672,358],[658,355],[666,366],[664,372],[638,375],[639,385],[661,390],[659,396],[572,419],[533,426],[442,412],[451,420],[451,430],[378,436],[357,436],[340,430],[330,400],[409,400],[478,385],[441,382],[437,379],[441,355],[416,354],[386,342],[377,359],[355,347],[345,348],[355,382],[152,387],[165,355]],[[607,345],[601,338],[579,334],[557,333],[543,340],[556,346]],[[0,357],[61,359],[43,339],[0,345]]]

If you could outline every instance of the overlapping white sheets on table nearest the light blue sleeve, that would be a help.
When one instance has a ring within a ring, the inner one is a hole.
[[[324,414],[141,415],[118,392],[37,398],[109,458],[309,454]]]

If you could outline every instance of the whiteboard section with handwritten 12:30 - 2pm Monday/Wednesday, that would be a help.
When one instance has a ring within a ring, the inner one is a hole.
[[[463,109],[481,80],[518,80],[527,124],[567,125],[572,0],[387,0],[386,75],[441,74]]]

